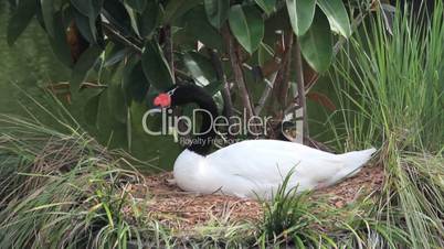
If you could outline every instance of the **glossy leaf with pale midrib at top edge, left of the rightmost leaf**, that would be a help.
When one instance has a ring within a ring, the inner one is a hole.
[[[286,0],[289,22],[297,36],[307,32],[315,17],[316,0]]]

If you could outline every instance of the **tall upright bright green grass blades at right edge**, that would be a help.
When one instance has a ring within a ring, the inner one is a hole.
[[[346,147],[393,141],[397,148],[411,151],[443,149],[442,6],[437,1],[429,23],[409,9],[399,10],[393,35],[379,13],[350,40],[332,73],[338,95],[346,96],[339,99]]]

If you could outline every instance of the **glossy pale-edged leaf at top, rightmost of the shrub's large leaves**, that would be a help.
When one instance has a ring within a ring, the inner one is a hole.
[[[345,37],[350,37],[350,20],[342,0],[317,0],[319,8],[327,15],[331,30]]]

